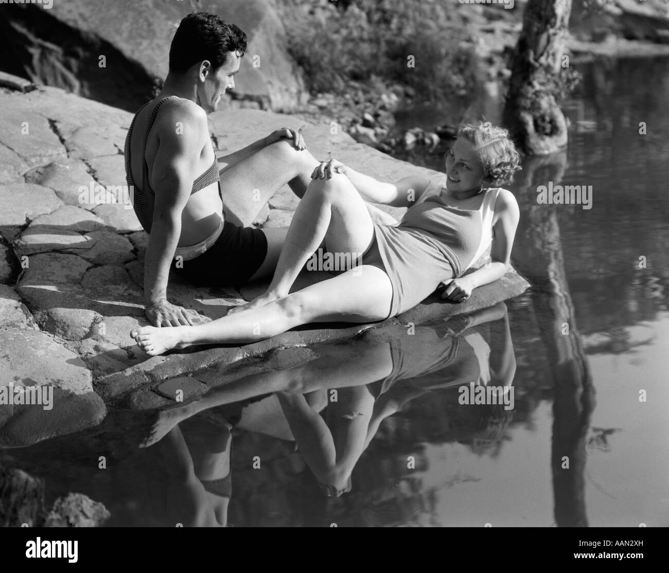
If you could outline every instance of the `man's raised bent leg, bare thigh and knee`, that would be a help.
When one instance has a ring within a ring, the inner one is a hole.
[[[288,183],[298,197],[304,195],[318,161],[308,150],[296,150],[288,141],[272,143],[221,170],[225,218],[250,225],[267,201]]]

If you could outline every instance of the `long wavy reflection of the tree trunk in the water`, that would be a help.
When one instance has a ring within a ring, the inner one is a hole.
[[[553,377],[555,522],[559,527],[587,527],[585,445],[595,409],[595,387],[576,328],[557,211],[537,205],[535,193],[538,185],[559,183],[566,164],[565,152],[525,160],[516,193],[522,213],[516,245],[523,257],[514,260],[514,266],[532,284],[533,306]]]

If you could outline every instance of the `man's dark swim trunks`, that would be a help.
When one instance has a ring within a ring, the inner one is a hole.
[[[267,255],[267,238],[255,227],[237,227],[225,221],[216,242],[204,253],[173,263],[174,272],[184,281],[198,286],[246,284],[258,271]]]

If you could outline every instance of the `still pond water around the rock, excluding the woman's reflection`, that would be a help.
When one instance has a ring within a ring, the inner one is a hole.
[[[305,368],[223,386],[191,409],[217,407],[149,448],[138,444],[155,417],[110,411],[0,461],[43,478],[47,503],[69,491],[102,501],[109,526],[668,526],[669,62],[581,71],[569,149],[526,162],[512,187],[529,292],[478,324],[328,346]],[[548,181],[592,185],[592,209],[537,205]],[[393,364],[393,384],[369,384]],[[488,376],[512,379],[513,409],[458,403],[459,386]],[[306,394],[262,397],[281,388]],[[228,500],[193,469],[225,475],[230,449]],[[319,482],[350,491],[328,497]]]

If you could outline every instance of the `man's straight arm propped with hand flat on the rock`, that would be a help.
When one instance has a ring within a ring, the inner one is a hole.
[[[167,301],[170,265],[181,235],[181,213],[190,197],[202,149],[207,117],[185,105],[165,110],[158,132],[159,148],[153,164],[155,206],[145,259],[144,299],[154,326],[191,324],[179,306]],[[183,123],[177,134],[173,126]]]

